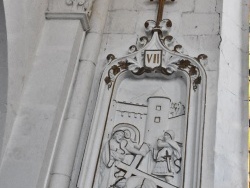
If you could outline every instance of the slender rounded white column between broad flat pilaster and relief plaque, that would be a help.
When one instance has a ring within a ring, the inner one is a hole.
[[[52,159],[51,176],[50,180],[48,180],[50,188],[68,188],[70,185],[83,119],[95,73],[96,60],[100,50],[108,5],[109,0],[100,0],[96,1],[93,7],[90,23],[92,27],[84,41],[67,113],[64,114],[61,130],[58,130],[58,132],[61,132],[61,135],[58,142],[55,143],[57,149]],[[87,137],[88,132],[85,134],[85,137]],[[73,179],[73,182],[76,182],[76,180]]]

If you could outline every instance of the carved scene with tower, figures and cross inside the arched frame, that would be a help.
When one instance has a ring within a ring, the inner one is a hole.
[[[143,178],[155,186],[179,186],[185,112],[183,106],[177,109],[181,102],[172,101],[186,104],[186,90],[180,78],[130,75],[120,82],[110,105],[96,187],[125,187]]]

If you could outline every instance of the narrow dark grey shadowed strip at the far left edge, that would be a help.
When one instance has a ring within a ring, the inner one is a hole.
[[[3,1],[0,1],[0,162],[7,114],[8,55],[7,33]]]

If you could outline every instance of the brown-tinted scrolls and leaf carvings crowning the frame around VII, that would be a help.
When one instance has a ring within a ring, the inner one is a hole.
[[[164,67],[162,65],[149,67],[149,66],[139,66],[138,63],[135,63],[136,56],[134,56],[134,59],[130,61],[129,58],[124,58],[121,61],[118,61],[117,64],[113,65],[109,71],[108,75],[105,78],[105,82],[108,85],[108,88],[112,86],[112,83],[115,81],[116,76],[118,73],[124,70],[131,71],[134,75],[143,75],[145,73],[159,73],[166,76],[172,75],[177,69],[186,72],[191,78],[192,78],[192,84],[194,91],[197,89],[198,85],[201,83],[201,76],[200,76],[200,70],[197,68],[189,59],[184,58],[180,55],[184,54],[184,49],[180,44],[177,43],[177,41],[169,35],[169,30],[172,27],[172,22],[169,19],[162,20],[159,23],[159,26],[157,26],[156,22],[153,20],[148,20],[145,22],[145,30],[146,33],[151,35],[151,38],[147,36],[141,37],[136,45],[132,45],[129,47],[129,54],[136,54],[139,50],[143,51],[147,44],[149,44],[151,39],[153,38],[153,35],[155,34],[160,43],[163,45],[165,50],[172,51],[173,55],[168,59],[169,62],[171,62],[171,59],[176,59],[175,62],[167,63],[167,66]],[[157,40],[157,39],[156,39]],[[145,50],[146,52],[146,50]],[[144,52],[142,52],[144,53]],[[152,54],[153,56],[154,54]],[[175,55],[175,57],[174,57]],[[146,57],[143,57],[144,61],[146,61]],[[152,57],[153,59],[154,57]],[[205,54],[200,54],[198,57],[193,58],[194,60],[198,61],[199,63],[205,63],[207,61],[207,56]],[[113,54],[109,54],[107,56],[107,60],[109,63],[117,60],[116,57]],[[166,59],[165,59],[166,61]],[[156,62],[155,62],[156,63]],[[152,62],[154,64],[154,62]],[[175,65],[175,67],[173,67]]]

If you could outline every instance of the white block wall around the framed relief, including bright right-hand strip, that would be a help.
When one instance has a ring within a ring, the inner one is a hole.
[[[106,56],[127,54],[129,46],[145,35],[144,22],[156,18],[156,4],[111,0],[84,127],[91,124]],[[163,17],[173,22],[170,34],[190,56],[200,53],[208,56],[208,63],[203,65],[207,73],[201,186],[204,188],[246,187],[247,4],[247,1],[178,0],[165,6]]]

